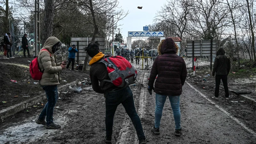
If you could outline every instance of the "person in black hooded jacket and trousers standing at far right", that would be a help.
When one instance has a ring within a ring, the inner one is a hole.
[[[228,74],[230,71],[230,58],[225,55],[225,51],[223,48],[219,48],[216,52],[216,58],[213,64],[212,76],[215,76],[215,93],[212,99],[219,100],[219,91],[220,91],[220,80],[222,80],[224,90],[225,90],[225,98],[228,100]]]

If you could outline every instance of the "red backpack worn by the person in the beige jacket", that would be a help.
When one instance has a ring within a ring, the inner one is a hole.
[[[41,51],[47,51],[49,52],[48,50],[46,49],[42,49]],[[50,52],[49,52],[50,54]],[[50,54],[51,56],[51,54]],[[41,69],[39,68],[39,63],[38,63],[38,57],[36,57],[34,60],[32,60],[32,62],[30,63],[29,65],[29,72],[30,72],[30,75],[31,77],[34,79],[34,80],[41,80],[42,79],[42,75],[44,73],[44,70],[41,71]]]

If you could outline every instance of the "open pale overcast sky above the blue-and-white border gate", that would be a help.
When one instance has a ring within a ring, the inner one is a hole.
[[[125,42],[128,31],[143,31],[143,26],[153,23],[157,11],[161,10],[167,0],[119,0],[119,7],[122,6],[125,12],[129,14],[118,23],[123,24],[120,28]],[[142,9],[138,9],[142,6]]]

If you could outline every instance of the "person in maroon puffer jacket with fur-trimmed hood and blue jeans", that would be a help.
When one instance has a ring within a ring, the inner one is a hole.
[[[160,134],[160,121],[164,103],[168,96],[174,116],[175,136],[181,135],[180,95],[187,77],[187,67],[184,59],[176,54],[177,51],[178,49],[172,38],[162,40],[158,45],[159,56],[156,57],[149,76],[148,92],[150,95],[152,95],[152,90],[156,92],[155,125],[151,128],[151,131],[155,134]]]

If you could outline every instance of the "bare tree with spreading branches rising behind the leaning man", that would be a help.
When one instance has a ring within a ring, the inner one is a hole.
[[[117,22],[122,20],[128,14],[128,12],[125,13],[122,9],[116,10],[116,7],[119,4],[118,0],[69,1],[78,3],[78,8],[81,9],[81,13],[91,16],[88,17],[86,21],[89,25],[93,25],[92,42],[95,40],[96,36],[100,35],[100,29],[109,30],[113,26],[117,26]],[[111,24],[112,17],[115,18],[115,21]],[[84,60],[83,70],[86,69],[88,60],[89,56],[87,54]]]

